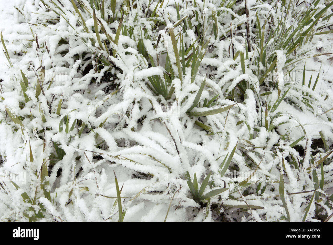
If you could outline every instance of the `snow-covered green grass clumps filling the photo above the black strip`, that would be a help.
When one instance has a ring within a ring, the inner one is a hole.
[[[1,221],[332,214],[332,1],[9,5]]]

